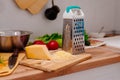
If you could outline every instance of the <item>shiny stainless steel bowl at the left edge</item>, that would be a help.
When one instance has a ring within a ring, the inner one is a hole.
[[[24,49],[31,33],[30,31],[22,30],[0,31],[0,51],[11,52],[14,49]]]

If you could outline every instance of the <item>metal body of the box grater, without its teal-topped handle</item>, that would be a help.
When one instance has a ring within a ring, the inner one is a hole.
[[[63,20],[63,50],[72,54],[85,52],[84,18],[76,15]]]

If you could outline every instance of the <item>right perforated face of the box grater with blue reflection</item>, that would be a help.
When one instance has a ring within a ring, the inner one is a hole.
[[[72,51],[73,54],[80,54],[84,50],[84,19],[74,18],[72,29]]]

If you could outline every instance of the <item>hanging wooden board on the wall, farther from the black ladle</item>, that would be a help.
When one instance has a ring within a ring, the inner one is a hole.
[[[21,9],[27,9],[31,5],[33,5],[37,0],[15,0],[16,4],[21,8]]]

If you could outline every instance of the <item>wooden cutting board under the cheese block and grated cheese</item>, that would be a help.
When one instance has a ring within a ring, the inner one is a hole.
[[[63,70],[70,66],[76,65],[82,61],[88,60],[91,58],[90,54],[79,54],[75,55],[68,60],[33,60],[33,59],[24,59],[20,64],[29,66],[32,68],[40,69],[47,72]]]

